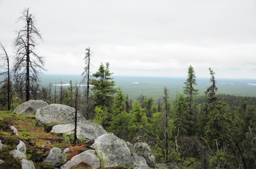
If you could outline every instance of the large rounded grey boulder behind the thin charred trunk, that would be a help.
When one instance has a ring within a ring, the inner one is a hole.
[[[36,121],[39,125],[73,123],[74,117],[75,109],[62,104],[50,104],[36,110]],[[77,117],[78,122],[85,120],[80,114],[77,114]]]

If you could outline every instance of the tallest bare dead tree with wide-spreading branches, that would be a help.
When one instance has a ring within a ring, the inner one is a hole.
[[[25,8],[18,18],[17,22],[23,21],[24,27],[15,31],[17,37],[14,39],[14,77],[22,81],[26,81],[26,101],[30,99],[30,83],[38,84],[38,75],[42,73],[44,68],[44,57],[36,53],[37,39],[43,42],[42,35],[36,28],[35,15],[28,12],[29,8]]]

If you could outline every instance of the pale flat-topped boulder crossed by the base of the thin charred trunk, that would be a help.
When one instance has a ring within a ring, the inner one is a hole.
[[[51,132],[66,133],[67,135],[69,135],[74,129],[75,123],[58,124],[52,127]],[[84,120],[84,122],[77,123],[76,134],[78,138],[84,137],[84,139],[91,140],[92,138],[97,138],[103,134],[107,134],[107,132],[99,124]]]

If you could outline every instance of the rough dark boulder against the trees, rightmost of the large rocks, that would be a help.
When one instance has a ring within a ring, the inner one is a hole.
[[[135,148],[136,153],[139,154],[140,156],[142,156],[146,160],[147,165],[149,167],[151,167],[151,168],[156,167],[156,165],[155,165],[155,156],[152,153],[152,151],[150,150],[147,143],[137,142],[134,145],[134,148]]]

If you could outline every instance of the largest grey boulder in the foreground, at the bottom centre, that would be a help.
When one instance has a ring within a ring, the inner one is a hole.
[[[106,167],[121,165],[133,166],[137,160],[141,161],[140,159],[134,160],[127,144],[114,134],[104,134],[98,137],[94,140],[94,144],[92,144],[91,147],[96,150],[97,154],[102,153],[106,161]],[[134,157],[135,154],[134,152]],[[135,165],[138,166],[141,164]]]

